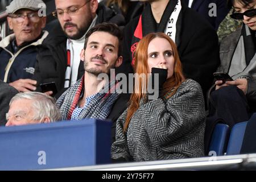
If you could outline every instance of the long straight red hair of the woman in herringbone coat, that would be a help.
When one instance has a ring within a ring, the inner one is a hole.
[[[168,78],[166,82],[164,82],[163,92],[161,93],[162,97],[169,98],[176,93],[177,88],[179,88],[180,84],[184,81],[184,76],[182,73],[181,62],[179,58],[179,53],[177,52],[176,44],[171,40],[171,38],[168,35],[162,32],[157,32],[157,33],[150,33],[144,36],[144,38],[142,38],[139,41],[138,46],[136,48],[134,69],[135,69],[135,73],[138,73],[138,75],[142,73],[146,75],[148,73],[151,73],[151,71],[148,70],[147,49],[148,49],[148,44],[150,44],[151,40],[155,38],[166,39],[171,44],[172,51],[174,53],[174,60],[175,60],[174,75],[171,78]],[[146,79],[148,80],[147,77]],[[141,99],[145,97],[146,97],[146,93],[143,92],[142,80],[139,80],[139,87],[136,88],[136,92],[131,94],[131,97],[129,100],[127,117],[126,117],[125,125],[123,126],[124,131],[127,131],[131,117],[133,117],[133,114],[135,113],[135,111],[138,110],[139,101],[141,101]]]

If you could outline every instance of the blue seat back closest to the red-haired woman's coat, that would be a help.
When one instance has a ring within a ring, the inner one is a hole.
[[[215,151],[216,155],[224,155],[226,144],[228,143],[229,126],[218,123],[213,130],[209,144],[209,154]]]

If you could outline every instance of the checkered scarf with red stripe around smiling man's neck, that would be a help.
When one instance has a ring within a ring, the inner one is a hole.
[[[82,118],[106,119],[117,100],[119,93],[115,88],[115,81],[108,82],[104,88],[89,102],[89,105],[79,114]],[[110,89],[109,89],[110,88]],[[60,108],[62,119],[71,119],[71,115],[77,107],[81,92],[84,92],[84,76],[71,88],[66,90],[57,100],[56,105]]]

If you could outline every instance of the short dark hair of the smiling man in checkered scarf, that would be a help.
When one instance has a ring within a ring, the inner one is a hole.
[[[122,40],[123,34],[122,31],[119,29],[117,24],[114,23],[100,23],[96,26],[90,28],[90,30],[85,35],[85,42],[84,42],[84,49],[86,49],[88,38],[93,32],[107,32],[115,37],[118,38],[118,57],[122,55]]]

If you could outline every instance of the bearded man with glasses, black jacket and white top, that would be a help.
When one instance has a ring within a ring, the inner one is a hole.
[[[122,26],[125,19],[108,7],[98,5],[97,0],[55,0],[55,5],[52,15],[59,23],[49,32],[39,50],[34,78],[39,83],[55,82],[61,93],[84,73],[80,53],[86,32],[102,22]],[[38,88],[38,91],[42,90]]]

